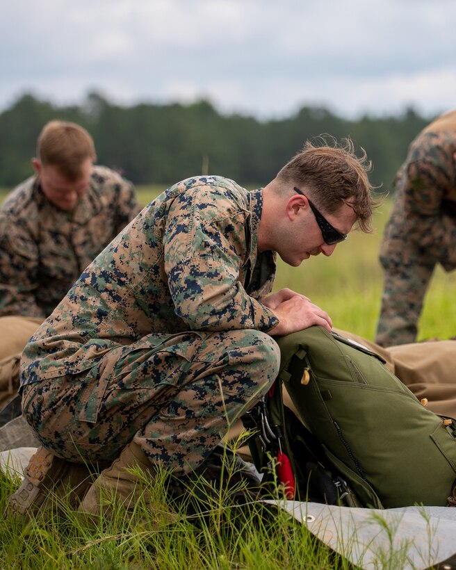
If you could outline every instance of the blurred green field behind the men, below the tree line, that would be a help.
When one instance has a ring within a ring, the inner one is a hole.
[[[146,205],[163,190],[165,186],[138,186],[138,199]],[[0,201],[5,194],[6,190],[0,189]],[[279,260],[275,290],[289,287],[307,295],[329,313],[335,327],[373,340],[382,294],[377,254],[389,208],[390,202],[384,202],[375,213],[375,234],[352,232],[330,258],[320,255],[304,261],[299,268]],[[456,272],[447,274],[437,268],[421,316],[418,340],[456,335],[455,293]]]

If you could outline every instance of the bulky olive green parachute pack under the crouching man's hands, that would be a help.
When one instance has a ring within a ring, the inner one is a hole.
[[[380,356],[323,327],[277,342],[279,376],[243,418],[266,488],[278,479],[288,498],[334,505],[453,506],[453,418],[421,405]]]

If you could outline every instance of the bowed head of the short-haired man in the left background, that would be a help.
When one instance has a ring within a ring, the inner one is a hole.
[[[70,180],[81,175],[87,158],[97,159],[93,139],[79,124],[50,121],[38,136],[37,156],[43,166],[54,165]]]

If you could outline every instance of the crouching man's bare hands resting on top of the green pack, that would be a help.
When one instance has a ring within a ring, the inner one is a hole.
[[[279,324],[268,333],[271,336],[284,336],[313,325],[320,325],[331,332],[332,320],[329,315],[309,298],[291,289],[273,293],[261,299],[261,303],[279,319]]]

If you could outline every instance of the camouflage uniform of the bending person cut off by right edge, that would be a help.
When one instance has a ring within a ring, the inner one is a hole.
[[[395,181],[382,241],[384,292],[376,342],[412,343],[434,266],[456,268],[456,111],[426,127]]]

